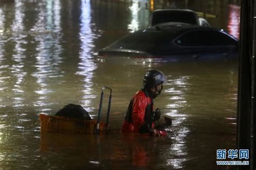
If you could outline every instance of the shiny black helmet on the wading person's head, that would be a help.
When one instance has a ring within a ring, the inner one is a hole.
[[[158,84],[165,85],[166,82],[164,73],[159,70],[149,70],[143,78],[143,85],[149,88],[156,87]]]

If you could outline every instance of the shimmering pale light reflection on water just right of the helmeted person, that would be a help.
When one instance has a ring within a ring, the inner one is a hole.
[[[171,96],[169,98],[169,104],[166,105],[166,108],[170,110],[170,112],[166,113],[166,115],[172,118],[175,117],[170,130],[172,130],[174,127],[179,129],[175,135],[171,136],[173,141],[173,144],[171,145],[172,150],[174,151],[175,155],[187,155],[185,137],[190,130],[185,126],[182,126],[183,122],[186,120],[187,114],[181,113],[180,108],[188,107],[186,105],[187,102],[185,94],[190,85],[190,76],[177,77],[177,79],[172,76],[168,76],[167,79],[169,80],[167,86],[171,88],[165,89],[164,91],[165,93],[171,94]],[[187,159],[169,159],[167,161],[167,165],[173,166],[175,169],[182,168],[184,161],[187,161]]]

